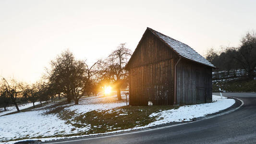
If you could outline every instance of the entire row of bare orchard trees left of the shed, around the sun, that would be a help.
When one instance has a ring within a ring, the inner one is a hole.
[[[78,104],[82,96],[97,95],[106,84],[111,84],[121,100],[120,88],[127,84],[127,71],[124,70],[131,50],[125,43],[103,60],[88,65],[86,60],[75,59],[70,50],[66,50],[50,61],[50,68],[42,79],[35,84],[24,84],[16,80],[2,78],[0,82],[0,107],[6,110],[7,106],[15,105],[19,112],[18,103],[48,102],[55,97],[66,97],[67,102]]]

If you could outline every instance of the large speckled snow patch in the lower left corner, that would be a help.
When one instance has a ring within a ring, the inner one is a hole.
[[[77,133],[90,127],[77,129],[71,124],[65,124],[56,115],[42,115],[44,110],[20,112],[1,116],[0,141],[22,137],[52,136],[55,134]],[[72,131],[75,129],[74,131]]]

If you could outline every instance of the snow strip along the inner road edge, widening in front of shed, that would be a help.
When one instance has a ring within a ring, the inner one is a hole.
[[[152,123],[149,123],[146,126],[134,127],[131,129],[118,130],[118,131],[113,131],[113,132],[81,135],[81,136],[42,138],[40,140],[45,142],[45,141],[51,141],[51,140],[60,140],[60,139],[69,139],[69,138],[79,138],[79,137],[85,137],[85,136],[111,134],[111,133],[117,133],[117,132],[128,132],[128,131],[132,131],[132,130],[145,129],[148,127],[152,127],[152,126],[156,126],[156,125],[164,124],[164,123],[191,121],[193,118],[203,117],[203,116],[206,116],[207,114],[216,113],[220,110],[229,108],[235,103],[234,99],[227,99],[227,97],[223,97],[223,99],[221,99],[220,96],[213,96],[213,101],[215,101],[215,102],[207,103],[207,104],[183,106],[178,109],[163,110],[158,113],[152,113],[150,116],[151,117],[157,116],[157,120]],[[30,140],[32,140],[32,139],[30,139]],[[38,140],[38,139],[33,139],[33,140]],[[7,142],[7,144],[9,144],[9,143],[12,144],[12,143],[14,143],[14,141]]]

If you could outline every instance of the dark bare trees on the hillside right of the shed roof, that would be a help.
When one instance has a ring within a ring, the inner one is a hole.
[[[217,66],[216,71],[244,69],[250,79],[255,77],[256,69],[256,34],[248,32],[238,48],[224,48],[218,52],[213,48],[207,51],[206,59]]]

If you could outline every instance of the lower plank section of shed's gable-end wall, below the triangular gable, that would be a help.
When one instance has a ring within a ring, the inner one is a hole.
[[[174,70],[171,67],[173,60],[161,61],[157,64],[131,69],[130,104],[172,105],[174,94]]]

